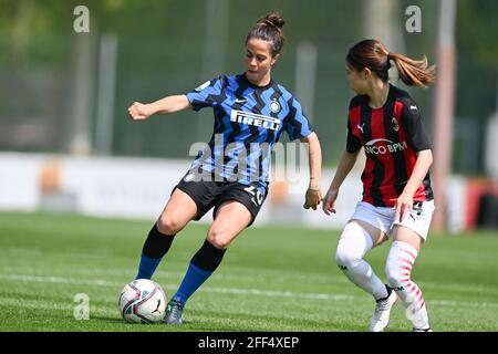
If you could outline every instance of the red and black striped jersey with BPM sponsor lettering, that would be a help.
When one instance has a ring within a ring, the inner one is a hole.
[[[418,107],[405,91],[390,85],[386,103],[376,110],[369,106],[369,100],[367,95],[351,100],[346,150],[355,153],[362,146],[365,150],[363,201],[393,207],[412,175],[416,154],[430,149],[430,142]],[[414,201],[433,198],[427,173]]]

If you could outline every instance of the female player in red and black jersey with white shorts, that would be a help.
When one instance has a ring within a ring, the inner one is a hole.
[[[421,289],[411,272],[434,212],[428,173],[433,155],[418,106],[388,83],[391,61],[409,86],[426,86],[434,80],[435,67],[428,67],[426,58],[415,61],[391,53],[376,40],[350,49],[345,70],[357,95],[350,103],[345,152],[322,207],[326,215],[335,212],[339,189],[363,146],[363,200],[339,240],[338,266],[376,300],[370,331],[381,332],[388,325],[391,308],[398,298],[413,330],[430,331]],[[390,285],[384,285],[363,257],[388,237],[394,241],[385,264]]]

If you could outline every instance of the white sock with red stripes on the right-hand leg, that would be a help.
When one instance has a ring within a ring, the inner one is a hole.
[[[412,267],[417,258],[417,250],[403,241],[394,241],[385,264],[385,273],[406,309],[406,317],[415,329],[428,329],[428,315],[424,296],[411,279]]]

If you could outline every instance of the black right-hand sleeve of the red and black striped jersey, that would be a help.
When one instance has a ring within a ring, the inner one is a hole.
[[[432,148],[430,139],[422,123],[421,112],[413,100],[404,100],[401,124],[415,152]]]

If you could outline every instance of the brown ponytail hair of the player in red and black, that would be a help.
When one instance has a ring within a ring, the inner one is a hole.
[[[435,79],[435,65],[428,66],[427,58],[413,60],[400,53],[391,53],[377,40],[364,40],[353,45],[346,61],[356,71],[369,67],[381,80],[387,81],[391,60],[396,65],[400,79],[408,86],[427,87]]]

